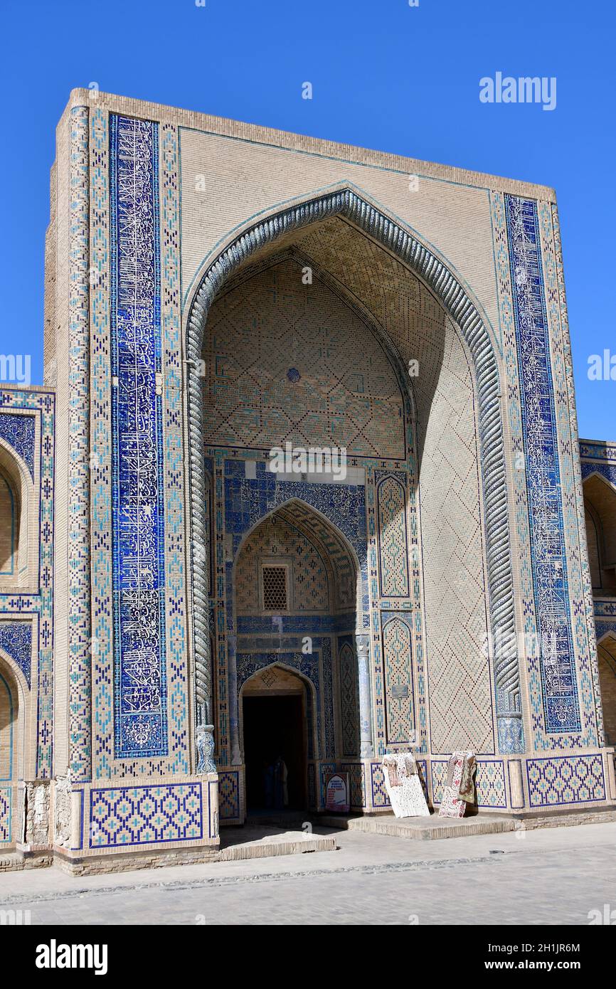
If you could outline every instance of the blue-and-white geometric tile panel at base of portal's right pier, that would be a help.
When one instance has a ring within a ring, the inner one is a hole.
[[[605,800],[601,756],[554,756],[526,763],[531,807]]]

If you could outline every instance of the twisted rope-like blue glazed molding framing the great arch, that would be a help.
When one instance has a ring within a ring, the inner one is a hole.
[[[261,247],[294,229],[335,216],[346,217],[392,251],[399,261],[425,282],[460,327],[471,353],[479,400],[491,637],[492,643],[498,644],[493,656],[493,670],[499,748],[501,752],[523,752],[500,387],[493,349],[481,315],[445,264],[410,233],[350,189],[318,196],[251,226],[220,253],[205,273],[191,308],[187,357],[197,724],[209,723],[212,705],[208,627],[209,537],[204,514],[203,383],[198,371],[208,313],[232,272]],[[501,643],[506,644],[504,648]]]

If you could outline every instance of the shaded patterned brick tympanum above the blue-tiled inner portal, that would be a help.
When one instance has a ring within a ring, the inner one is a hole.
[[[381,345],[328,286],[304,283],[297,260],[217,300],[204,358],[208,446],[270,449],[289,440],[404,456],[401,397]]]

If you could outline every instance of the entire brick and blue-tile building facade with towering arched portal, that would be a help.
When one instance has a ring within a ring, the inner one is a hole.
[[[553,192],[91,97],[45,386],[1,393],[3,847],[212,857],[279,756],[298,810],[337,767],[387,812],[409,747],[435,806],[460,748],[480,811],[609,805],[616,457],[580,459]]]

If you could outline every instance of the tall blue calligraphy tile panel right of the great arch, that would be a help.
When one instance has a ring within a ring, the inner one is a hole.
[[[537,206],[505,197],[521,383],[535,610],[548,733],[580,731],[561,500],[557,418]]]

